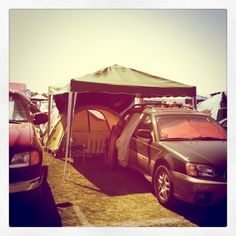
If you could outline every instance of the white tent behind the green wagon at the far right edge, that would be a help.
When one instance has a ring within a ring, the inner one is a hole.
[[[220,92],[199,103],[197,110],[208,113],[217,121],[223,120],[227,117],[227,92]]]

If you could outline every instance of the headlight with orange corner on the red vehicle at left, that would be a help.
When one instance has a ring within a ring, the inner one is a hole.
[[[10,168],[26,167],[37,165],[40,161],[40,156],[37,151],[16,153],[10,162]]]

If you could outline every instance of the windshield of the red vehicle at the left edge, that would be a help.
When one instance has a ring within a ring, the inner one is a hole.
[[[25,106],[16,95],[9,95],[9,121],[24,122],[28,121]]]

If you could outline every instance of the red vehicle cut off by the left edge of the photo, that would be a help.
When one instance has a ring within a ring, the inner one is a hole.
[[[44,179],[43,148],[36,126],[47,120],[47,114],[38,112],[23,94],[9,92],[10,199],[28,196],[40,198]]]

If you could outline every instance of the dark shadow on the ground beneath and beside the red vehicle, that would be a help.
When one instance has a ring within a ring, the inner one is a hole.
[[[47,170],[46,170],[47,171]],[[9,201],[9,225],[11,227],[62,226],[60,215],[47,181],[42,185],[42,199],[38,202],[31,195],[18,195]]]

